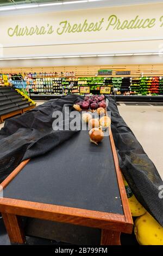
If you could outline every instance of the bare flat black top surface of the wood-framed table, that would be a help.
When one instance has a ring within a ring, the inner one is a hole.
[[[4,197],[123,214],[109,137],[95,145],[88,131],[77,132],[30,160]]]

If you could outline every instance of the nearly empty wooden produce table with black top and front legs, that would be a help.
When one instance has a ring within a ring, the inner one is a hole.
[[[21,217],[101,229],[101,245],[120,245],[131,218],[112,133],[98,146],[77,132],[49,153],[23,161],[1,186],[5,227],[12,243],[24,243]]]

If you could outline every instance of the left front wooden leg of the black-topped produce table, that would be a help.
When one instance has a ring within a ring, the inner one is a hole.
[[[20,217],[13,214],[4,213],[2,213],[2,217],[10,241],[12,243],[24,243],[26,237],[21,227]]]

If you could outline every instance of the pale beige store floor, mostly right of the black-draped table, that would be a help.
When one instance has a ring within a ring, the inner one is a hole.
[[[37,106],[43,101],[37,101]],[[134,132],[163,179],[163,106],[118,106],[124,121]],[[4,124],[0,124],[0,129]]]

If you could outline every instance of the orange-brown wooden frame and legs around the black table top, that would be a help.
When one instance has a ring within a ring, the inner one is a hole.
[[[120,234],[131,233],[133,219],[131,217],[126,190],[123,184],[118,157],[110,129],[110,143],[115,162],[118,186],[120,188],[124,215],[111,214],[67,206],[29,202],[11,198],[0,198],[0,212],[2,212],[5,227],[12,243],[24,243],[26,237],[21,225],[20,216],[40,218],[55,222],[84,225],[102,229],[101,245],[120,245]],[[23,169],[30,159],[21,164],[1,183],[3,188]],[[22,170],[23,171],[23,170]]]

